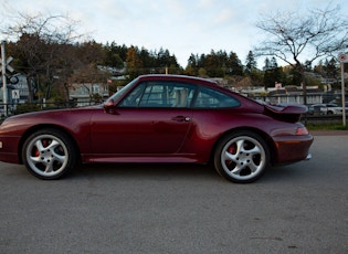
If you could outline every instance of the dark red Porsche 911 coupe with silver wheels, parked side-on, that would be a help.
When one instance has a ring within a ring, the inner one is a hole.
[[[214,82],[144,75],[98,106],[17,115],[0,126],[0,160],[57,179],[76,163],[212,162],[233,182],[310,157],[304,106],[271,106]]]

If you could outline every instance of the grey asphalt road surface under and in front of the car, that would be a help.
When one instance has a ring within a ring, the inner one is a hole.
[[[348,135],[235,184],[205,166],[114,165],[43,181],[0,162],[0,253],[348,253]]]

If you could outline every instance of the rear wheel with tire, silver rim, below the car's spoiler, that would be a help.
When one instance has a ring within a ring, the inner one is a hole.
[[[218,173],[232,182],[249,183],[265,172],[270,161],[268,147],[252,131],[235,131],[222,138],[215,149]]]

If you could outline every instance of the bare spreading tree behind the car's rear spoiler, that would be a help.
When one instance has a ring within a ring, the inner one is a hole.
[[[339,7],[309,10],[308,13],[277,12],[263,17],[256,27],[266,39],[256,47],[257,55],[276,56],[293,66],[300,76],[306,104],[305,64],[345,51],[348,46],[348,19]]]

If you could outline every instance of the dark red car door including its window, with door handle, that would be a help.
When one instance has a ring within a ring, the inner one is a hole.
[[[178,152],[191,126],[191,98],[187,91],[193,94],[193,88],[166,82],[139,84],[112,114],[93,116],[93,152],[109,156]]]

